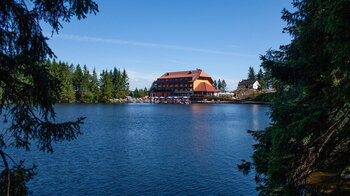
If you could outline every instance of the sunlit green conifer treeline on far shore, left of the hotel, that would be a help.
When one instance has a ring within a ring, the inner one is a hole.
[[[59,82],[58,103],[108,103],[113,98],[130,95],[129,77],[124,70],[114,67],[103,70],[100,76],[86,67],[65,62],[45,61],[49,72]]]

